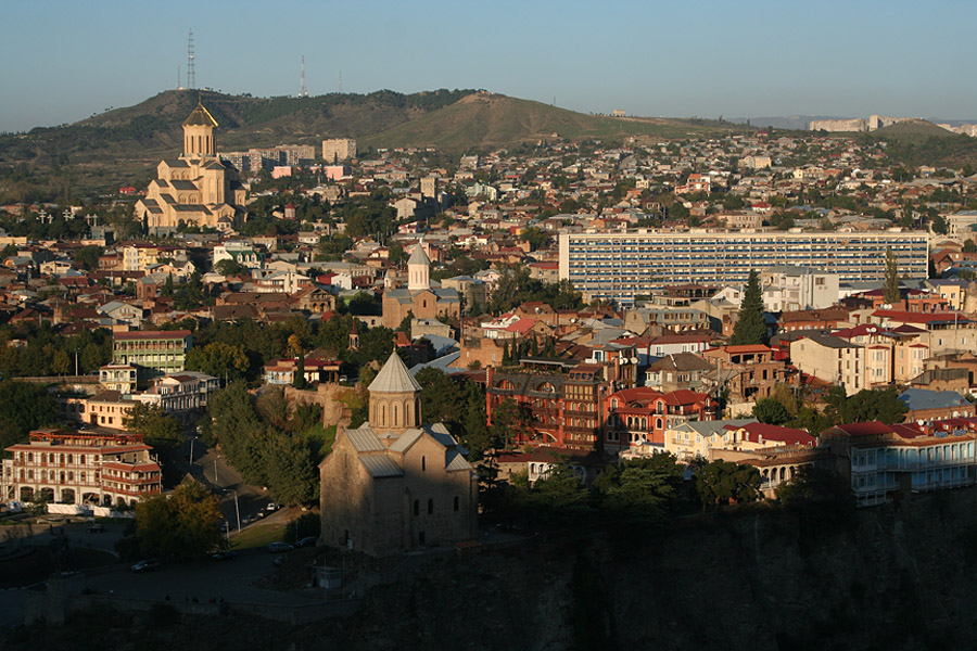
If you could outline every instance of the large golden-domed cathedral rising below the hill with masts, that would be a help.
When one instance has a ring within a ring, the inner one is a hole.
[[[145,197],[136,203],[136,217],[151,235],[167,235],[180,222],[228,230],[243,214],[246,191],[234,167],[216,154],[217,120],[198,104],[183,122],[183,153],[161,161]]]

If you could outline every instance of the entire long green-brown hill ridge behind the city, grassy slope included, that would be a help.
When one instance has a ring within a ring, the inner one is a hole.
[[[218,151],[353,137],[365,148],[424,145],[457,154],[542,138],[654,140],[747,130],[696,119],[586,115],[473,90],[414,94],[380,90],[314,98],[168,90],[71,125],[0,136],[0,194],[17,200],[15,194],[27,194],[30,188],[40,192],[51,184],[51,177],[61,179],[64,193],[143,187],[161,158],[180,151],[180,125],[198,98],[219,123]],[[18,188],[16,193],[12,187]]]

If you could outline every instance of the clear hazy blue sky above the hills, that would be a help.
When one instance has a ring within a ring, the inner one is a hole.
[[[0,131],[182,81],[295,94],[484,88],[583,112],[977,120],[977,2],[3,2]]]

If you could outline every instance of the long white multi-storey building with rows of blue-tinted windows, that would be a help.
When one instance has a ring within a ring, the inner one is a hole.
[[[560,233],[560,279],[591,299],[631,304],[636,294],[673,283],[745,283],[751,269],[790,265],[837,273],[841,282],[880,281],[886,250],[899,275],[926,278],[923,231],[782,232],[694,229]]]

